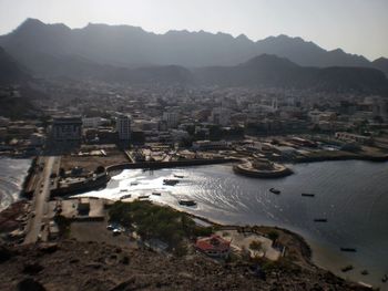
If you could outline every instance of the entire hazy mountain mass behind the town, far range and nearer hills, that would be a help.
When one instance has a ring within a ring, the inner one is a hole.
[[[29,19],[0,37],[0,45],[42,76],[129,84],[387,92],[387,79],[381,72],[387,72],[387,59],[369,62],[364,56],[339,49],[328,52],[313,42],[286,35],[253,42],[243,34],[237,38],[204,31],[155,34],[141,28],[106,24],[72,30],[64,24]],[[18,75],[17,71],[14,74]]]

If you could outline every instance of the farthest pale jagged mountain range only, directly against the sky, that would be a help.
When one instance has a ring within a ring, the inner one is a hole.
[[[53,65],[55,62],[64,66],[90,62],[125,67],[170,64],[198,67],[236,65],[265,53],[304,66],[375,65],[361,55],[340,49],[326,51],[313,42],[287,35],[254,42],[244,34],[237,38],[204,31],[155,34],[131,25],[92,23],[70,29],[35,19],[28,19],[11,33],[0,37],[0,45],[39,74],[59,70]]]

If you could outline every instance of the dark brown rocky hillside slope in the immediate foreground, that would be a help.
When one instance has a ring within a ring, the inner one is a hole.
[[[247,263],[216,263],[200,254],[118,252],[73,240],[53,248],[43,253],[39,245],[10,249],[12,258],[0,263],[0,290],[364,290],[317,268],[279,264],[263,279]]]

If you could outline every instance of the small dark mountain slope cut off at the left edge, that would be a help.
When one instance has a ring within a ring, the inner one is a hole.
[[[0,48],[0,85],[10,85],[28,80],[17,61]]]

